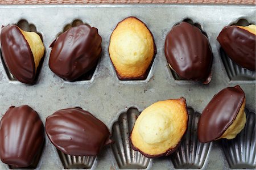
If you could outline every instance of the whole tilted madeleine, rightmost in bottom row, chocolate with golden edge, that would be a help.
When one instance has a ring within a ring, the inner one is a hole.
[[[233,139],[245,127],[245,93],[237,85],[222,89],[204,108],[198,123],[200,142]]]

